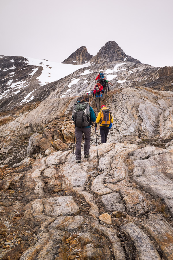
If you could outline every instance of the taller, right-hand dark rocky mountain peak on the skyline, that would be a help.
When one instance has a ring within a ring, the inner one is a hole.
[[[126,55],[123,49],[121,49],[116,42],[109,41],[101,47],[99,52],[91,59],[91,62],[95,62],[95,64],[103,64],[105,62],[109,63],[125,60],[129,62],[141,63],[139,60]]]

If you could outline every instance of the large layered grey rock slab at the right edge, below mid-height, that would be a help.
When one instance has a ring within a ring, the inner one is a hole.
[[[155,198],[164,200],[173,216],[173,182],[167,177],[173,173],[173,153],[167,152],[136,160],[134,165],[133,180]]]

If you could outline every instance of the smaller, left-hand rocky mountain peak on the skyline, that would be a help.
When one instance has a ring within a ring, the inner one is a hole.
[[[89,62],[92,57],[93,55],[90,55],[90,53],[88,53],[86,46],[81,46],[62,63],[82,65],[86,62]]]

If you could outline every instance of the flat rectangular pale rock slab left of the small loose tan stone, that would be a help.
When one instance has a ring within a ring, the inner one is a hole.
[[[44,213],[48,216],[73,215],[79,208],[72,196],[54,197],[43,200]]]

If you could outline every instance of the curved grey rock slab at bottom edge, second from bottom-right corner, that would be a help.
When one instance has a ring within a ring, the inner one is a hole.
[[[133,241],[140,260],[161,260],[149,237],[133,223],[121,227]]]

